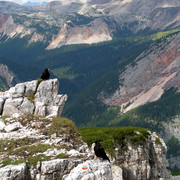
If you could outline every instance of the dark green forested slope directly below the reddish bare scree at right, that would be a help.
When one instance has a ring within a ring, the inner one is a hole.
[[[161,122],[169,122],[180,115],[180,93],[168,90],[158,101],[135,108],[111,122],[113,126],[139,126],[159,132]]]

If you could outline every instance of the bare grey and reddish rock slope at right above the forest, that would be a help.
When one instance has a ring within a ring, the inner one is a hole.
[[[121,106],[122,112],[158,100],[164,91],[180,86],[180,33],[153,44],[119,75],[119,88],[112,95],[101,93],[103,103]]]

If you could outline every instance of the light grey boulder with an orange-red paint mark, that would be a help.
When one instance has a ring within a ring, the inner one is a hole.
[[[112,180],[111,164],[109,161],[87,160],[71,170],[63,180]]]

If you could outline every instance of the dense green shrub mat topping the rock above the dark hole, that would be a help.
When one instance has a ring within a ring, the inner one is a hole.
[[[128,143],[133,146],[143,146],[149,135],[147,129],[138,127],[91,127],[78,130],[88,146],[96,140],[100,140],[104,149],[113,156],[114,148],[119,147],[120,151],[126,151]]]

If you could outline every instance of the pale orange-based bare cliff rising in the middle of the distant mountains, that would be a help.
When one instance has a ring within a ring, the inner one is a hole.
[[[74,26],[70,21],[59,31],[46,48],[47,50],[69,44],[92,44],[112,40],[108,25],[101,19],[96,19],[88,25]]]

